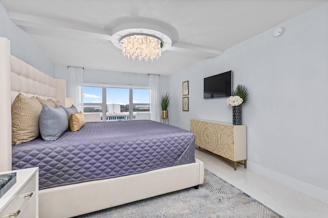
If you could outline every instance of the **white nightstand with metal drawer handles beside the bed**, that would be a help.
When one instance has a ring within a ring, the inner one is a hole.
[[[16,183],[0,198],[0,217],[38,217],[38,167],[18,169]]]

